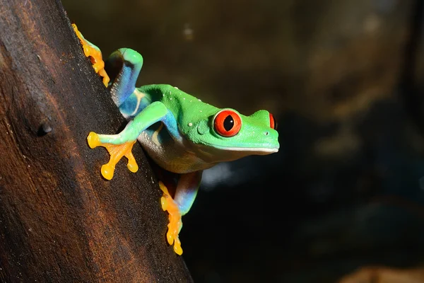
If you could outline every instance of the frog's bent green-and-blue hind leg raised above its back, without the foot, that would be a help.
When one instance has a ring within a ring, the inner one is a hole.
[[[143,57],[129,48],[121,48],[107,59],[105,68],[112,77],[110,95],[118,107],[134,93],[141,67]]]

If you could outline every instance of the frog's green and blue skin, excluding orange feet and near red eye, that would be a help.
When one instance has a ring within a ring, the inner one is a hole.
[[[192,207],[204,169],[223,161],[278,151],[278,132],[270,127],[271,117],[266,110],[245,116],[201,102],[173,86],[136,88],[142,65],[141,54],[127,48],[117,50],[107,60],[108,73],[116,74],[108,89],[130,122],[119,134],[98,137],[109,144],[138,139],[155,163],[179,173],[174,201],[181,215]],[[233,137],[224,137],[216,129],[215,118],[222,110],[240,115],[240,131]]]

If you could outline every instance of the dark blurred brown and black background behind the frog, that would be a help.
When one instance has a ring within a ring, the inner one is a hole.
[[[139,85],[278,120],[278,154],[204,173],[195,282],[424,282],[423,0],[62,2]]]

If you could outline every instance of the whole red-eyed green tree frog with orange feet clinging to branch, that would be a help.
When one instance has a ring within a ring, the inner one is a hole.
[[[100,168],[101,175],[111,180],[122,157],[126,157],[129,171],[136,173],[139,166],[132,154],[136,141],[160,168],[177,174],[173,197],[161,180],[158,185],[163,192],[161,207],[168,213],[167,243],[182,255],[182,216],[196,199],[203,171],[245,156],[278,152],[276,120],[266,110],[247,116],[232,108],[217,108],[169,84],[136,87],[143,57],[131,48],[110,54],[106,65],[114,75],[109,79],[100,49],[86,40],[76,25],[73,29],[114,104],[129,121],[118,134],[88,134],[91,149],[102,146],[110,154]]]

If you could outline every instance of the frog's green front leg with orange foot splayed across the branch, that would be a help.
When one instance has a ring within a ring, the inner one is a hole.
[[[102,166],[101,172],[103,177],[107,180],[112,179],[115,165],[122,156],[128,158],[129,162],[127,166],[129,170],[136,172],[139,166],[137,166],[134,156],[131,153],[132,146],[141,132],[159,121],[165,124],[171,134],[172,132],[177,132],[177,122],[174,116],[159,101],[148,105],[119,134],[96,134],[95,132],[90,132],[87,137],[90,148],[94,149],[97,146],[104,146],[110,154],[109,162]]]

